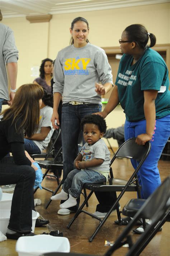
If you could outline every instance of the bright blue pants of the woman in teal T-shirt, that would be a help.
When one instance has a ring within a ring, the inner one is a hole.
[[[124,125],[124,138],[128,140],[137,137],[141,133],[146,133],[146,120],[138,122],[128,122]],[[156,119],[154,134],[152,136],[151,151],[141,166],[138,177],[142,187],[141,196],[147,199],[161,184],[159,169],[157,168],[162,150],[170,137],[170,115]],[[137,161],[131,160],[133,168],[137,167]]]

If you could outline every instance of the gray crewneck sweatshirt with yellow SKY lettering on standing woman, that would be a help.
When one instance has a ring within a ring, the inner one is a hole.
[[[112,70],[105,51],[87,44],[76,48],[67,46],[58,52],[54,67],[53,93],[63,96],[63,103],[80,101],[101,104],[95,83],[112,83]]]

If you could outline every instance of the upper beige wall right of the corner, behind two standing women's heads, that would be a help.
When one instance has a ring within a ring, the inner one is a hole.
[[[122,31],[133,23],[146,26],[149,32],[156,35],[157,44],[170,43],[170,3],[58,14],[53,15],[50,21],[50,58],[54,58],[54,54],[69,44],[69,27],[71,21],[77,16],[85,17],[88,20],[89,40],[92,44],[100,47],[118,46]]]

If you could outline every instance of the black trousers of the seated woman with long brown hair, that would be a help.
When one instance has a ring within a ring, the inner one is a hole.
[[[36,178],[29,165],[16,165],[13,157],[0,160],[0,185],[16,184],[8,228],[26,233],[32,229],[33,188]]]

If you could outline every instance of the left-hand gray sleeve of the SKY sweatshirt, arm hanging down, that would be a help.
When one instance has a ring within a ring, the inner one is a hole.
[[[62,65],[63,64],[60,59],[60,52],[58,52],[58,55],[54,64],[53,93],[59,92],[61,95],[63,93],[63,87],[64,87],[64,73],[63,73]]]

